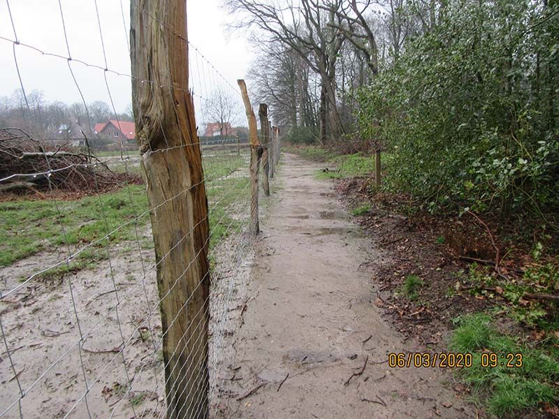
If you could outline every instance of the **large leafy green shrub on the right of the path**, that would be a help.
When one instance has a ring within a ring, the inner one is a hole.
[[[433,30],[361,90],[360,132],[393,153],[392,186],[430,210],[556,217],[558,11],[449,1]]]

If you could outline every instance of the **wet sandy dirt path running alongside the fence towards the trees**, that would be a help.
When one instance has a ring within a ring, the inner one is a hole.
[[[358,269],[385,256],[349,221],[332,184],[314,178],[319,166],[283,159],[224,416],[474,418],[451,374],[389,367],[388,353],[414,348],[375,307],[374,272]]]

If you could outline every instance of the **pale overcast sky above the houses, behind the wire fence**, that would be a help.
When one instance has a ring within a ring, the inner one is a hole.
[[[97,0],[101,20],[101,32],[106,50],[107,66],[110,70],[130,75],[129,37],[131,0]],[[17,39],[52,54],[68,56],[62,28],[58,0],[9,0]],[[96,18],[94,0],[61,0],[66,33],[71,57],[88,64],[105,67],[101,36]],[[121,11],[121,5],[124,9]],[[249,61],[249,46],[240,33],[228,36],[224,23],[228,16],[221,0],[187,1],[189,41],[224,75],[233,86],[238,78],[244,78]],[[6,1],[0,2],[0,96],[11,96],[20,87],[13,59],[15,39]],[[41,90],[47,101],[73,103],[80,101],[78,89],[71,78],[65,59],[48,57],[23,45],[15,46],[17,63],[24,89],[30,92]],[[196,79],[196,56],[190,51],[191,79]],[[198,64],[201,66],[202,64]],[[106,101],[110,103],[103,78],[103,70],[91,68],[73,61],[72,68],[87,103]],[[209,80],[210,68],[201,70]],[[131,103],[131,80],[126,76],[108,74],[110,93],[117,112],[122,112]],[[215,79],[214,79],[215,80]],[[204,90],[199,80],[194,89]],[[203,93],[203,91],[201,92]]]

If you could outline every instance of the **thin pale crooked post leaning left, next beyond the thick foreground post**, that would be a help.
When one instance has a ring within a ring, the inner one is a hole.
[[[258,219],[258,172],[260,167],[260,159],[262,156],[262,146],[258,139],[258,127],[256,126],[256,116],[250,104],[249,93],[247,91],[247,84],[245,80],[237,80],[242,102],[245,103],[245,113],[249,123],[249,140],[250,140],[250,230],[254,235],[260,233],[259,219]]]

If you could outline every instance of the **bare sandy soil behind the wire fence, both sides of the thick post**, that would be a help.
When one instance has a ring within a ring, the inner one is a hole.
[[[151,231],[143,234],[149,237]],[[227,397],[228,366],[235,355],[231,339],[240,327],[254,257],[254,239],[245,236],[245,232],[232,235],[212,251],[217,265],[210,298],[210,409]],[[9,408],[2,418],[20,418],[22,391],[24,418],[64,418],[68,413],[71,418],[165,417],[153,250],[144,249],[140,258],[132,246],[124,242],[122,250],[111,251],[116,293],[108,260],[61,281],[19,283],[64,260],[62,250],[0,268],[1,293],[22,285],[0,300],[2,328],[14,365],[0,338],[0,413]],[[91,387],[87,397],[86,380]]]

